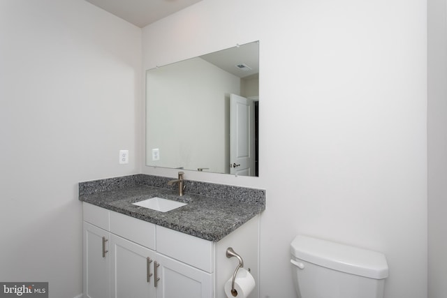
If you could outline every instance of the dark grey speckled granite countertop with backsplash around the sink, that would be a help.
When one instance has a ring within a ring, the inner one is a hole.
[[[185,195],[169,188],[171,178],[135,174],[79,184],[79,200],[149,221],[156,225],[219,241],[265,210],[265,191],[254,188],[185,180]],[[168,212],[133,205],[159,197],[187,202]]]

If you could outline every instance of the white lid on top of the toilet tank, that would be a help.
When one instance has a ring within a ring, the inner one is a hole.
[[[291,243],[291,253],[300,260],[349,274],[388,277],[385,255],[376,251],[298,235]]]

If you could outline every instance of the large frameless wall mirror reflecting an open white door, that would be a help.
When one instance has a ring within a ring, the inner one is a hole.
[[[146,165],[258,176],[259,43],[146,72]]]

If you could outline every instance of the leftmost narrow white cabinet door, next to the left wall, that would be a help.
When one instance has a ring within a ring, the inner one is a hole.
[[[110,297],[110,233],[84,222],[84,295],[87,298]]]

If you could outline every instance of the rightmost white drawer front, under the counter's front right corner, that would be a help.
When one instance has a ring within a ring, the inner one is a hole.
[[[156,251],[212,273],[214,243],[189,234],[156,227]]]

